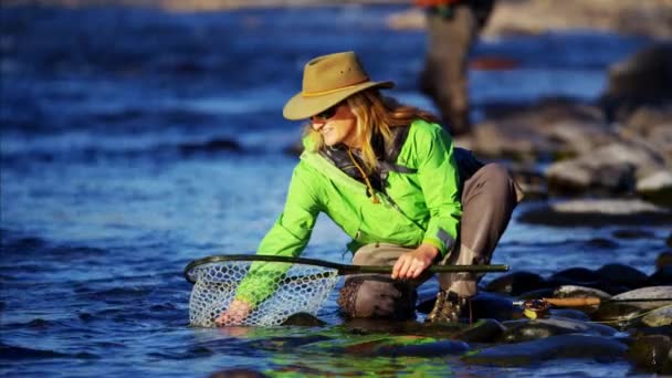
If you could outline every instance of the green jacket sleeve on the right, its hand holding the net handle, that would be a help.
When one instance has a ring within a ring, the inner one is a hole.
[[[413,141],[418,179],[430,213],[423,242],[445,255],[458,239],[462,216],[452,139],[440,126],[424,124],[414,133]]]

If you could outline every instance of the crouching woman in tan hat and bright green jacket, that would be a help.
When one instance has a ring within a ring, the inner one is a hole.
[[[427,267],[487,263],[521,197],[505,169],[454,149],[432,115],[379,94],[392,86],[369,80],[354,52],[318,56],[283,109],[311,123],[283,213],[258,253],[298,256],[325,212],[353,238],[354,264],[393,265],[389,277],[346,280],[338,303],[350,317],[413,316]],[[442,274],[439,282],[428,319],[454,322],[477,277]],[[216,323],[240,323],[271,291],[244,280]]]

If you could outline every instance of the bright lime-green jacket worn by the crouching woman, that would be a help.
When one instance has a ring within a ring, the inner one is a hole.
[[[376,192],[380,202],[374,203],[365,183],[306,146],[294,169],[284,210],[258,253],[298,256],[308,243],[317,216],[324,212],[353,239],[348,244],[351,252],[376,242],[408,248],[428,242],[444,255],[456,239],[462,214],[450,135],[440,125],[414,120],[396,164],[409,170],[390,171],[385,193]],[[273,264],[261,263],[251,273],[270,270]],[[263,280],[266,282],[262,288],[259,274],[258,279],[253,275],[241,282],[238,297],[256,304],[272,293],[274,285]]]

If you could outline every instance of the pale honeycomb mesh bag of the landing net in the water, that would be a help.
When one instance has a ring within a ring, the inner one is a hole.
[[[189,323],[198,327],[216,326],[214,319],[241,297],[253,304],[252,312],[221,325],[275,326],[296,313],[316,315],[338,282],[334,269],[279,262],[210,262],[187,274],[195,282]]]

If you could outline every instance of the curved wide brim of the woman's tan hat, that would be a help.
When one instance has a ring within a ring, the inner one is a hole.
[[[347,90],[314,97],[305,97],[302,93],[298,93],[294,97],[290,98],[290,101],[285,104],[284,108],[282,109],[282,115],[286,119],[291,120],[305,119],[328,109],[329,107],[340,103],[342,101],[354,95],[355,93],[372,87],[392,88],[395,87],[395,83],[367,82],[353,87],[348,87]]]

